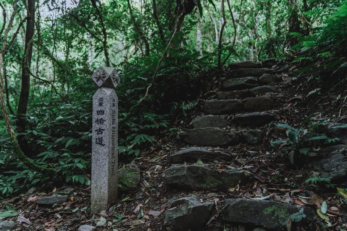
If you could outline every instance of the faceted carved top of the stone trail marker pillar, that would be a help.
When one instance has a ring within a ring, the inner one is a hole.
[[[120,78],[116,68],[110,68],[108,66],[100,66],[94,74],[92,74],[92,80],[94,85],[98,88],[116,88]]]

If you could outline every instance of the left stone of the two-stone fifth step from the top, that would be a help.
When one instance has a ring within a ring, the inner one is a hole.
[[[207,100],[204,105],[204,111],[212,115],[235,113],[242,109],[243,104],[239,99]]]

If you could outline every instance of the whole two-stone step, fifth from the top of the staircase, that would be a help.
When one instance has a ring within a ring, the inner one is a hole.
[[[269,96],[257,96],[239,99],[207,100],[204,111],[212,115],[223,115],[237,112],[259,112],[270,110],[274,106],[274,100]]]

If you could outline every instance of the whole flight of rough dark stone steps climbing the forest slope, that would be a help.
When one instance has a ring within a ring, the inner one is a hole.
[[[263,126],[274,121],[276,108],[282,107],[276,96],[282,79],[276,74],[285,68],[270,60],[231,63],[228,70],[228,77],[220,83],[214,99],[205,101],[203,113],[192,121],[192,128],[179,133],[180,139],[192,146],[171,153],[172,165],[164,177],[172,188],[186,192],[204,190],[204,195],[211,190],[225,191],[253,178],[251,171],[242,168],[217,171],[214,162],[233,161],[220,147],[263,142]],[[220,209],[222,213],[218,214]],[[274,201],[227,199],[212,216],[216,204],[188,196],[172,202],[165,212],[164,226],[172,231],[202,230],[206,223],[218,218],[229,224],[244,224],[250,230],[284,230],[288,216],[299,210],[299,206]],[[314,211],[305,207],[305,214],[310,219]]]

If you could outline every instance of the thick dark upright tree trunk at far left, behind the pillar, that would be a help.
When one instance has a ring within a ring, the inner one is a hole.
[[[18,132],[26,130],[26,109],[28,106],[29,91],[30,91],[30,66],[31,57],[33,54],[33,36],[35,28],[35,0],[28,0],[27,4],[27,22],[25,30],[25,46],[22,60],[22,88],[20,89],[18,109],[17,109],[17,127]],[[28,142],[24,135],[18,135],[20,149],[25,154],[29,154]]]

